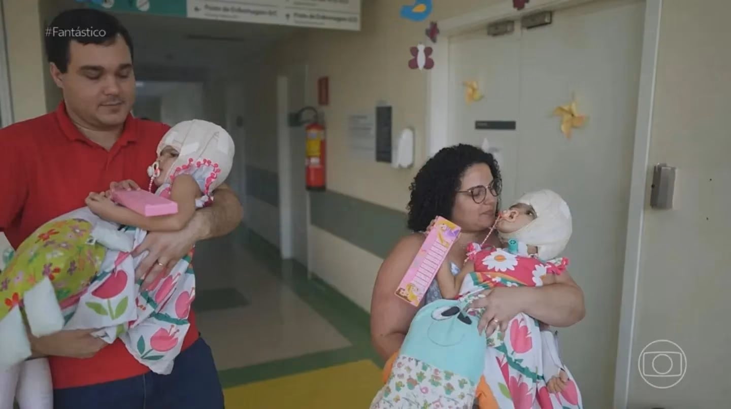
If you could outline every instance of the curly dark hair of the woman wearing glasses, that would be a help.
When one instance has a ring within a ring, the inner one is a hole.
[[[501,179],[498,162],[492,153],[472,145],[453,145],[443,148],[424,164],[409,188],[411,199],[407,206],[409,220],[406,226],[412,232],[423,232],[429,223],[442,216],[452,217],[455,195],[467,168],[487,164],[496,180]]]

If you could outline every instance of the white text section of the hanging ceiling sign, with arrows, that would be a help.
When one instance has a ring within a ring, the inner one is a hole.
[[[360,30],[360,0],[188,0],[189,18]]]

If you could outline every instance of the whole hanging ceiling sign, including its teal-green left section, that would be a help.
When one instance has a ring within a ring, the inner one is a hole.
[[[91,0],[88,5],[113,12],[360,31],[360,0]]]

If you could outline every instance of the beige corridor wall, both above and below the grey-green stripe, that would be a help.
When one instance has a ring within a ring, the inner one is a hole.
[[[450,1],[450,7],[435,7],[430,19],[450,18],[496,1]],[[289,65],[307,64],[309,104],[317,104],[317,78],[330,79],[330,104],[321,107],[327,126],[327,188],[406,211],[409,183],[425,160],[427,109],[427,74],[409,69],[409,47],[429,40],[424,34],[428,22],[402,19],[400,7],[399,1],[363,0],[360,32],[301,31],[279,42],[253,64],[247,78],[252,86],[249,95],[255,96],[257,110],[249,122],[251,131],[247,129],[249,166],[277,171],[276,75],[286,72]],[[350,156],[347,116],[374,110],[379,101],[393,107],[394,133],[406,126],[416,131],[415,163],[411,169],[393,169],[390,164]],[[371,290],[382,259],[314,226],[308,245],[312,249],[310,270],[357,305],[370,310]],[[342,260],[332,254],[348,259],[349,265],[356,265],[357,269],[344,268]]]

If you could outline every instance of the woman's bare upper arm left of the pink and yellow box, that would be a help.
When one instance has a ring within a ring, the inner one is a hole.
[[[423,242],[422,234],[403,237],[383,261],[376,275],[371,297],[371,343],[385,360],[401,348],[418,310],[394,293]]]

